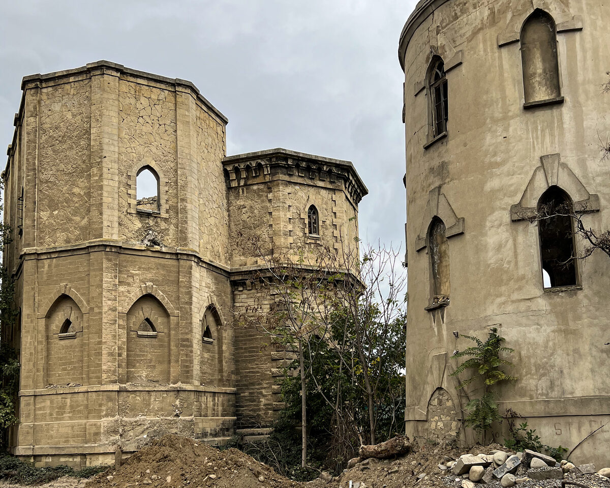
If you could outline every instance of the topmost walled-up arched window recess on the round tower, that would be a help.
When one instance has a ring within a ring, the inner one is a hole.
[[[525,104],[561,99],[555,21],[536,9],[521,29],[521,62]]]

